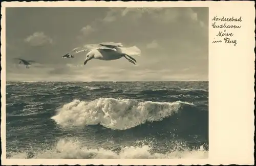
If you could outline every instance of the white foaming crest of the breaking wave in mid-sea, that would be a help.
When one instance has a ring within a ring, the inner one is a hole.
[[[74,100],[57,110],[52,119],[62,127],[100,124],[106,128],[125,130],[145,122],[172,116],[184,104],[176,102],[137,101],[99,98],[94,101]]]

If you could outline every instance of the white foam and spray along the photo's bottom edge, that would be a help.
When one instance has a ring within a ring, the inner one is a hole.
[[[208,151],[202,146],[197,150],[183,150],[169,152],[154,152],[151,145],[124,146],[118,150],[108,148],[90,148],[76,140],[61,139],[52,148],[37,151],[23,151],[9,154],[8,158],[72,158],[72,159],[99,159],[99,158],[207,158]]]

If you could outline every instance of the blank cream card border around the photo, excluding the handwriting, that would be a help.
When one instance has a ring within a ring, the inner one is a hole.
[[[209,157],[208,159],[6,159],[6,7],[209,7]],[[1,19],[2,163],[5,165],[105,164],[191,165],[253,164],[254,152],[254,46],[255,9],[248,1],[191,2],[3,2]],[[234,30],[239,44],[212,44],[218,29],[213,16],[242,16],[242,28]]]

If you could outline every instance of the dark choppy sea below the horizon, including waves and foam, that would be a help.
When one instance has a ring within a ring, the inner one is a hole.
[[[208,157],[208,81],[6,84],[8,158]]]

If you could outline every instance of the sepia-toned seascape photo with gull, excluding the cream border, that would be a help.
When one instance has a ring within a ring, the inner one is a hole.
[[[5,11],[7,158],[208,158],[208,7]]]

